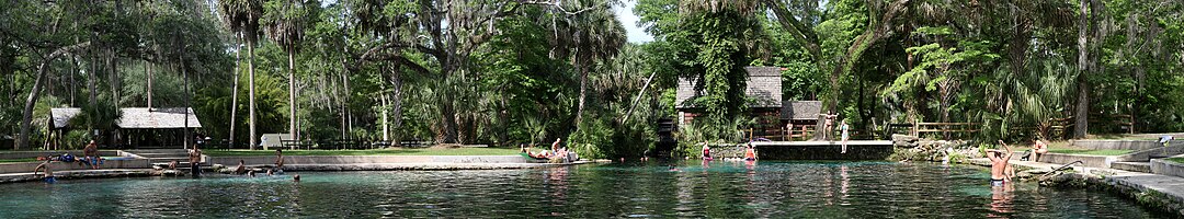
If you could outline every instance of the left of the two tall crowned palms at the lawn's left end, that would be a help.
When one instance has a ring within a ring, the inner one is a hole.
[[[246,66],[249,71],[247,86],[250,88],[250,148],[253,150],[256,143],[256,112],[255,112],[255,43],[259,37],[259,18],[263,15],[263,1],[260,0],[220,0],[223,19],[231,32],[239,33],[246,40]],[[238,78],[234,78],[238,79]],[[237,91],[236,91],[237,92]],[[231,130],[234,133],[234,130]]]

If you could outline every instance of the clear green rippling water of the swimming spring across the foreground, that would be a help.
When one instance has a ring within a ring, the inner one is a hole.
[[[549,169],[0,185],[0,218],[1163,218],[1103,192],[987,186],[986,169],[890,162]]]

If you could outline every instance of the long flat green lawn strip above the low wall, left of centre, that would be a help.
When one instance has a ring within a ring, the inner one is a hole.
[[[204,150],[210,156],[275,156],[276,150]],[[369,150],[284,150],[288,156],[333,156],[333,155],[397,155],[397,156],[446,156],[446,155],[519,155],[517,148],[395,148]]]

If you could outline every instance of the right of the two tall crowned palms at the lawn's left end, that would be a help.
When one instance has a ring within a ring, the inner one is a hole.
[[[304,28],[309,26],[308,6],[318,6],[316,1],[282,0],[269,1],[264,14],[264,26],[266,34],[275,40],[284,52],[288,53],[288,135],[290,140],[297,140],[296,135],[296,51],[300,50]]]

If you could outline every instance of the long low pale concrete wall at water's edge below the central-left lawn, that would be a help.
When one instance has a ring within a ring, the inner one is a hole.
[[[238,165],[243,160],[250,166],[272,165],[274,156],[213,156],[207,163]],[[529,163],[520,155],[503,156],[284,156],[284,165],[352,165],[352,163]]]

